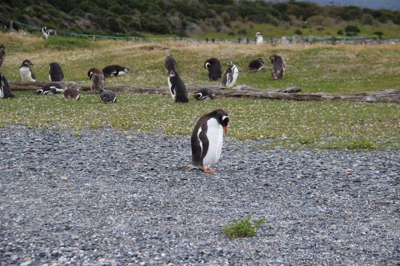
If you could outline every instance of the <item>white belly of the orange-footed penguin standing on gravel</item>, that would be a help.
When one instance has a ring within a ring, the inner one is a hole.
[[[223,128],[215,118],[208,120],[206,136],[208,139],[208,150],[203,158],[203,169],[214,165],[221,155]]]

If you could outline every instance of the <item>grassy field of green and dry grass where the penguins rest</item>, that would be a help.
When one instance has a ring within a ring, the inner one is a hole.
[[[172,52],[182,79],[190,84],[210,83],[203,61],[211,56],[223,65],[233,60],[239,68],[237,84],[273,89],[300,86],[303,92],[357,92],[398,88],[400,45],[359,46],[253,46],[204,43],[129,43],[101,41],[72,50],[39,48],[48,44],[29,37],[0,36],[7,47],[2,73],[19,81],[18,68],[29,58],[38,80],[47,80],[48,63],[63,67],[65,81],[88,84],[87,70],[117,63],[129,67],[128,74],[106,79],[106,85],[137,84],[166,86],[163,57]],[[20,44],[24,48],[19,48]],[[79,44],[80,45],[80,44]],[[155,49],[149,50],[149,46]],[[31,48],[36,47],[36,48]],[[168,50],[163,48],[167,47]],[[270,79],[268,66],[247,73],[250,59],[267,59],[276,52],[286,59],[283,80]],[[390,66],[390,67],[388,67]],[[38,96],[15,91],[15,99],[1,100],[0,126],[80,129],[115,127],[122,130],[190,134],[198,114],[223,108],[230,114],[228,134],[239,139],[270,138],[268,148],[357,149],[399,148],[400,106],[346,102],[291,102],[249,99],[190,100],[175,104],[170,97],[118,94],[116,104],[99,103],[98,95],[83,93],[78,102],[63,101],[60,95]],[[45,113],[45,115],[42,115]],[[72,119],[71,114],[76,114]],[[103,114],[99,116],[98,114]]]

